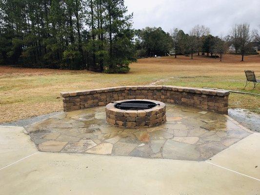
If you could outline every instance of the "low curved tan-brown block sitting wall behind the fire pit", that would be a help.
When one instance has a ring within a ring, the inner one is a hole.
[[[177,86],[121,86],[60,93],[64,111],[73,111],[124,99],[151,99],[201,108],[220,114],[228,112],[228,91]]]

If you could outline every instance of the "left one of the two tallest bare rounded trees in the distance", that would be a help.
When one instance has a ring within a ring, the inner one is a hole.
[[[200,56],[201,46],[202,46],[202,40],[201,38],[203,36],[207,36],[210,33],[210,29],[208,27],[205,27],[204,25],[196,25],[191,29],[190,35],[195,36],[197,38],[198,42],[198,56]]]

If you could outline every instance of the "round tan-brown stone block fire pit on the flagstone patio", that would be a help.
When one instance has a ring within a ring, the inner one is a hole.
[[[155,127],[166,121],[163,102],[148,99],[129,99],[106,105],[106,121],[126,128]]]

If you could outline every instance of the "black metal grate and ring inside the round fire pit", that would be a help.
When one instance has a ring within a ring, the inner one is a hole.
[[[125,101],[121,103],[117,103],[115,105],[116,108],[122,109],[122,110],[137,110],[137,109],[149,109],[155,107],[156,103],[150,102],[150,101]]]

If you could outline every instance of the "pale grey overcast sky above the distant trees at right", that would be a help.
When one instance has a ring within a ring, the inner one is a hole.
[[[188,33],[196,24],[210,28],[215,36],[226,35],[236,23],[260,25],[260,0],[125,0],[134,13],[133,27],[180,28]]]

